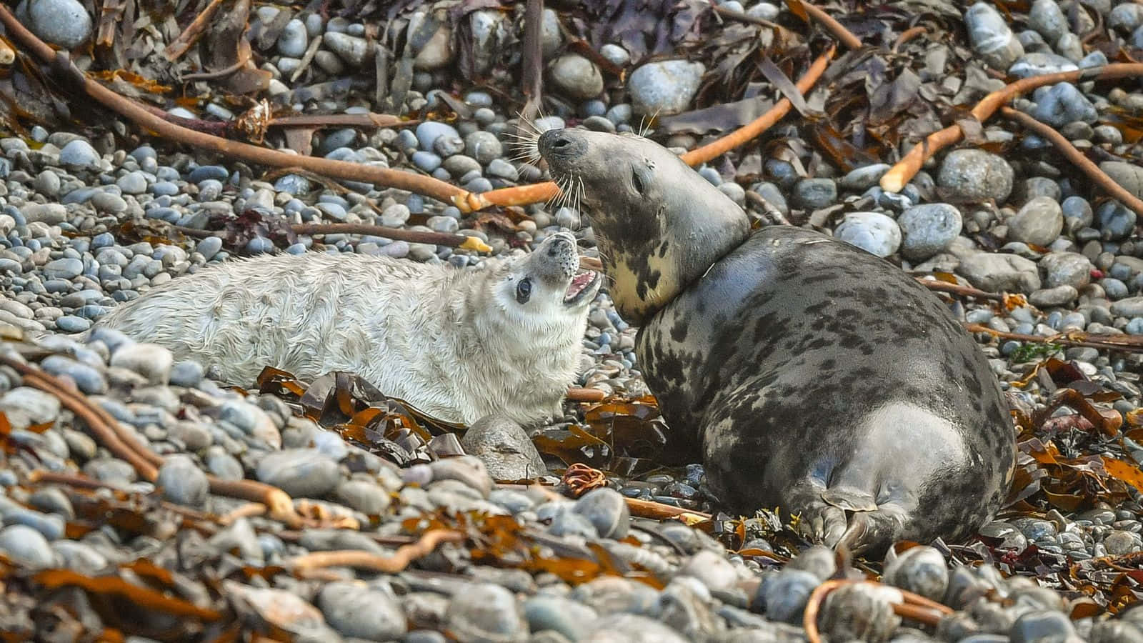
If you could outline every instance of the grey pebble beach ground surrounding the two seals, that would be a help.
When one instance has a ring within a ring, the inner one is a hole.
[[[74,47],[90,35],[89,14],[75,0],[30,5],[22,16],[39,37]],[[743,7],[735,0],[721,7],[806,31],[785,7]],[[970,104],[1004,85],[986,70],[1025,77],[1106,63],[1108,47],[1090,42],[1143,48],[1143,5],[1134,2],[1037,0],[1010,18],[983,3],[962,18],[951,10],[953,24],[966,30],[956,35],[961,42],[917,40],[902,50],[919,61],[921,81],[938,84],[936,95],[953,104]],[[521,14],[522,8],[465,14],[474,47],[469,64],[493,73],[498,48],[514,42],[510,34]],[[600,65],[631,62],[624,40],[600,47],[600,58],[585,58],[569,53],[561,19],[552,10],[544,15],[542,46],[554,58],[549,81],[557,101],[545,105],[552,116],[537,119],[537,127],[626,132],[640,127],[641,114],[692,106],[702,63],[644,64],[625,84],[605,90]],[[360,69],[373,64],[366,59],[366,21],[256,7],[249,37],[272,77],[266,96],[306,113],[384,111],[371,89],[323,85],[373,78]],[[1081,39],[1093,30],[1098,38]],[[161,41],[169,33],[169,25],[157,22],[139,38]],[[518,105],[449,80],[459,62],[448,42],[438,34],[424,43],[400,108],[442,110],[442,88],[455,89],[449,100],[463,101],[467,118],[376,130],[326,128],[312,153],[409,168],[474,192],[542,180],[543,170],[517,160],[511,145]],[[944,57],[957,56],[973,59],[945,70]],[[326,93],[315,89],[321,87]],[[1063,133],[1136,196],[1143,193],[1141,150],[1125,140],[1133,129],[1124,125],[1143,110],[1136,80],[1058,84],[1015,106]],[[170,111],[229,119],[231,108],[219,98],[195,111]],[[159,140],[126,145],[122,129],[88,125],[55,130],[37,125],[0,140],[0,334],[11,340],[0,344],[0,411],[10,424],[0,455],[5,632],[53,641],[94,640],[111,629],[136,641],[208,640],[240,624],[280,640],[798,641],[806,636],[802,612],[815,587],[884,571],[886,585],[846,586],[821,605],[821,628],[830,640],[1143,640],[1143,617],[1136,616],[1143,612],[1108,613],[1134,601],[1143,573],[1138,492],[1124,483],[1129,473],[1109,477],[1092,460],[1114,459],[1138,474],[1140,354],[977,333],[1022,411],[1034,415],[1057,388],[1087,380],[1079,388],[1093,400],[1089,407],[1110,419],[1110,428],[1100,435],[1080,408],[1040,418],[1022,435],[1021,466],[1049,478],[1066,477],[1064,471],[1072,482],[1045,478],[1041,489],[1018,478],[1014,509],[986,525],[974,543],[914,547],[890,556],[884,569],[842,562],[839,571],[831,553],[798,543],[769,515],[740,523],[740,538],[736,527],[728,532],[725,525],[692,529],[629,516],[624,495],[717,511],[697,465],[636,468],[610,477],[609,489],[573,500],[494,483],[535,477],[541,458],[504,460],[486,450],[499,439],[529,443],[510,422],[483,422],[461,444],[442,438],[426,444],[406,430],[390,434],[387,451],[379,450],[329,430],[333,422],[320,407],[312,413],[317,421],[302,416],[313,408],[297,395],[258,395],[253,382],[243,395],[211,380],[198,364],[174,363],[163,349],[115,333],[77,342],[73,335],[110,308],[235,255],[357,252],[459,269],[487,256],[337,235],[302,236],[281,247],[255,236],[235,247],[230,237],[209,233],[217,215],[249,208],[283,214],[293,223],[461,231],[480,237],[497,255],[527,252],[551,233],[572,230],[584,253],[594,253],[590,222],[570,207],[529,206],[506,231],[478,225],[474,215],[419,195],[298,174],[267,176],[262,168]],[[799,133],[791,126],[782,134]],[[679,148],[700,142],[682,129],[650,135]],[[285,145],[274,137],[269,143]],[[990,122],[975,143],[938,154],[900,193],[878,185],[888,165],[842,172],[806,151],[805,141],[790,149],[804,153],[756,154],[758,167],[736,157],[700,172],[768,223],[830,231],[918,275],[948,272],[983,291],[1026,295],[1026,304],[1014,307],[949,297],[965,322],[1040,338],[1071,331],[1143,335],[1136,213],[1106,199],[1042,138]],[[159,222],[208,231],[163,237]],[[600,294],[583,341],[583,386],[615,398],[647,392],[632,351],[634,331]],[[39,348],[30,348],[33,343]],[[1063,362],[1048,367],[1049,357]],[[24,363],[37,363],[65,389],[53,394],[33,386],[37,380],[19,372]],[[71,384],[82,395],[67,392]],[[75,404],[102,408],[130,440],[163,457],[154,482],[141,477],[122,451],[93,436]],[[533,431],[537,443],[565,440],[573,424],[583,423],[585,408],[568,404],[567,418]],[[462,450],[477,457],[448,457]],[[562,470],[553,451],[543,451],[549,470]],[[274,485],[295,499],[294,510],[263,514],[208,476]],[[426,530],[463,541],[418,551],[408,569],[392,563],[398,547]],[[344,550],[371,558],[315,563],[310,556]],[[935,626],[903,620],[890,608],[902,596],[888,586],[956,612]]]

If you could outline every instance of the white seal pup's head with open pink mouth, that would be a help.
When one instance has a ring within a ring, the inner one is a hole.
[[[588,305],[602,281],[598,272],[580,272],[578,268],[575,237],[552,235],[499,268],[490,281],[495,308],[522,330],[565,332],[568,320],[586,319]]]

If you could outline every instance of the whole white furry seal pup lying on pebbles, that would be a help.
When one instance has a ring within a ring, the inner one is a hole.
[[[561,415],[600,275],[575,237],[482,269],[360,254],[232,260],[114,308],[96,327],[251,384],[265,366],[350,371],[450,422]]]

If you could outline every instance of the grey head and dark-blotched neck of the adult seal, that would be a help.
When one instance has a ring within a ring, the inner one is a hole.
[[[586,207],[615,307],[642,325],[750,233],[729,197],[636,134],[550,129],[536,143],[555,182]]]

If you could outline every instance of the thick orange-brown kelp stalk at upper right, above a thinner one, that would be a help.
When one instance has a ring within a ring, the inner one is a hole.
[[[1103,65],[1102,68],[1033,76],[1017,80],[1005,86],[1002,89],[989,94],[980,103],[976,103],[976,106],[969,113],[980,122],[984,122],[1009,101],[1037,87],[1055,85],[1057,82],[1086,82],[1140,76],[1143,76],[1143,63],[1116,63]],[[960,126],[956,124],[929,134],[924,141],[913,145],[913,149],[909,150],[909,153],[903,159],[890,167],[889,172],[885,173],[880,182],[881,189],[886,192],[900,192],[920,172],[926,160],[944,148],[960,141],[964,134]]]

